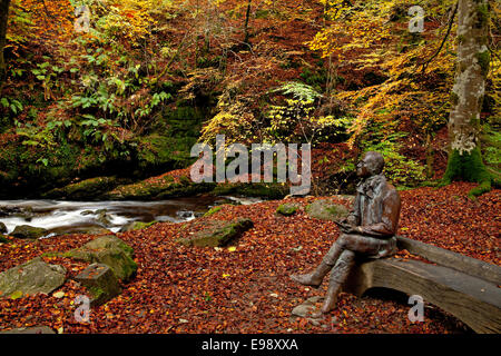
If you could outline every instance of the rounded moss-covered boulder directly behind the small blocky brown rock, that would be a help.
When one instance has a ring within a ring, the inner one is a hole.
[[[137,270],[134,249],[116,236],[102,236],[80,248],[63,254],[65,257],[108,265],[118,279],[127,281]]]

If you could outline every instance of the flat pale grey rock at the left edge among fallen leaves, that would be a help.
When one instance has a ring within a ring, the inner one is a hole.
[[[50,294],[62,286],[65,279],[65,267],[48,265],[40,257],[37,257],[0,274],[0,297],[9,297],[13,293],[22,293],[22,295]]]

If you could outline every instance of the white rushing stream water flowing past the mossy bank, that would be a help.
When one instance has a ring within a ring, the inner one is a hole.
[[[132,221],[181,222],[202,216],[215,205],[256,201],[259,200],[214,196],[158,201],[0,200],[0,222],[6,225],[7,234],[19,225],[45,228],[49,231],[47,237],[92,228],[117,233]]]

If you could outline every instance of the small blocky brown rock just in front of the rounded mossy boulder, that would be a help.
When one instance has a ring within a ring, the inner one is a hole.
[[[115,273],[107,265],[92,264],[75,277],[75,280],[85,286],[92,295],[91,306],[105,304],[121,293]]]

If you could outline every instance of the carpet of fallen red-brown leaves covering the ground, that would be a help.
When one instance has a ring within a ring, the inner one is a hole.
[[[402,191],[400,234],[492,264],[500,264],[500,195],[492,190],[478,200],[466,198],[473,187],[456,182],[441,189]],[[434,306],[425,320],[411,323],[406,297],[342,293],[338,307],[320,325],[291,318],[292,309],[318,289],[299,286],[288,275],[310,270],[337,238],[335,224],[308,218],[304,207],[317,197],[288,201],[303,207],[292,217],[275,210],[283,201],[250,206],[225,205],[209,217],[184,224],[157,224],[118,234],[134,247],[137,276],[120,296],[94,308],[90,322],[75,319],[75,298],[86,294],[68,279],[50,296],[0,299],[0,329],[47,325],[60,333],[463,333],[464,326]],[[337,198],[334,198],[337,199]],[[346,200],[338,202],[348,206]],[[254,228],[224,248],[194,248],[175,243],[204,228],[212,219],[248,217]],[[95,238],[59,236],[37,241],[0,245],[0,271],[42,253],[63,251]],[[401,257],[412,258],[405,251]],[[43,257],[63,265],[68,277],[86,265]],[[63,293],[63,295],[61,294]],[[468,330],[466,330],[468,332]]]

